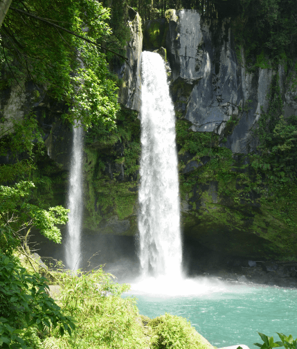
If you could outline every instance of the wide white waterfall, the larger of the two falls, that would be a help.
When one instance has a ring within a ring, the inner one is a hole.
[[[179,179],[175,118],[165,65],[142,54],[139,258],[143,274],[181,276]]]

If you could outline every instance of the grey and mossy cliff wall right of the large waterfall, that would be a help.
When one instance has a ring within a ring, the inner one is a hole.
[[[276,75],[285,118],[297,114],[292,72],[246,68],[228,20],[202,21],[195,10],[168,10],[165,17],[145,22],[143,49],[167,51],[185,236],[233,256],[296,258],[285,199],[279,209],[263,199],[251,165]]]

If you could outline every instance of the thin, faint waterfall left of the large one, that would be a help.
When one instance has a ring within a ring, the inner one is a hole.
[[[67,207],[70,209],[65,244],[66,267],[80,267],[80,233],[82,226],[82,127],[73,126],[73,147]]]

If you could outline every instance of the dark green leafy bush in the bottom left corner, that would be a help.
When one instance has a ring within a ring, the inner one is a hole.
[[[64,316],[60,307],[46,293],[46,279],[39,274],[27,274],[26,269],[0,253],[0,346],[1,348],[31,348],[24,334],[28,328],[43,332],[60,328],[69,332],[75,328],[71,316]]]

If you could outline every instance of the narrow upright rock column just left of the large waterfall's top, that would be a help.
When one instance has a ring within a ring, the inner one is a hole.
[[[127,59],[120,68],[119,77],[123,85],[118,92],[118,102],[129,109],[141,110],[141,52],[143,48],[143,33],[141,17],[132,8],[129,8],[129,28],[131,40],[128,42]]]

